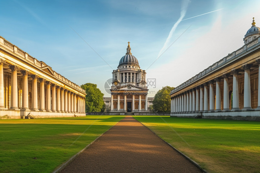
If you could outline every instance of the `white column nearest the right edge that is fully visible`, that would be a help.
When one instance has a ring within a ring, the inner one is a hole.
[[[250,68],[251,68],[251,65],[249,65],[249,64],[242,66],[242,69],[245,70],[244,108],[243,109],[252,109],[252,107],[251,107],[251,88],[250,88]]]

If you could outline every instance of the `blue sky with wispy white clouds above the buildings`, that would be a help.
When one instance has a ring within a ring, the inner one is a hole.
[[[156,88],[148,88],[158,91],[242,47],[253,17],[260,26],[258,0],[1,0],[0,5],[2,37],[78,85],[97,84],[106,97],[104,84],[128,41],[146,77],[156,78]]]

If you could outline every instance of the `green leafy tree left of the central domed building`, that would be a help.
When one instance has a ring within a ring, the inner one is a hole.
[[[101,112],[104,94],[97,88],[96,84],[86,83],[80,86],[86,90],[86,112]]]

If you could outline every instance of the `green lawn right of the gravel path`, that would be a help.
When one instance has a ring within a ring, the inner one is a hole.
[[[212,173],[260,172],[260,122],[134,116]]]

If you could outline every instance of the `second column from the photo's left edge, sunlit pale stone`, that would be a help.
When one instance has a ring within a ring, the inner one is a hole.
[[[11,104],[10,109],[18,109],[18,91],[17,91],[17,70],[19,67],[16,65],[10,65],[11,69]]]

